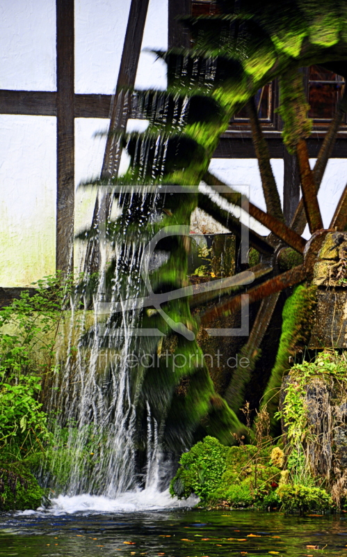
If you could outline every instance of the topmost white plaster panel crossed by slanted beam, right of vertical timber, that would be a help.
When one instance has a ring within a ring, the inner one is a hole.
[[[19,1],[19,0],[18,0]],[[76,93],[115,91],[131,0],[76,0]],[[166,88],[166,65],[146,49],[168,46],[168,0],[150,0],[136,88]]]

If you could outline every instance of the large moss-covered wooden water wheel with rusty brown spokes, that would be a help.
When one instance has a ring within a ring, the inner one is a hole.
[[[124,248],[122,261],[115,260],[110,267],[113,276],[118,276],[118,284],[126,280],[124,269],[127,269],[127,257],[133,257],[136,265],[140,265],[138,253],[140,246],[147,242],[146,238],[164,227],[189,227],[191,213],[197,206],[232,232],[240,234],[239,219],[221,208],[208,194],[198,191],[197,185],[204,180],[215,191],[223,187],[209,173],[209,161],[220,134],[227,130],[230,118],[247,106],[266,201],[266,212],[250,202],[248,211],[271,233],[268,237],[261,237],[249,230],[250,245],[261,254],[261,261],[255,268],[249,269],[257,282],[248,288],[247,295],[250,304],[258,301],[260,306],[250,336],[242,348],[243,354],[250,356],[252,365],[247,372],[236,368],[225,391],[227,402],[216,393],[206,363],[191,362],[190,355],[199,351],[193,335],[198,327],[191,315],[191,299],[170,300],[165,307],[165,319],[163,312],[157,311],[157,308],[150,308],[149,312],[144,308],[141,313],[143,326],[157,327],[167,336],[165,342],[170,358],[163,357],[164,342],[154,342],[152,338],[150,350],[160,357],[155,359],[153,368],[140,370],[143,382],[139,405],[142,404],[145,409],[148,403],[156,423],[162,425],[163,437],[168,445],[177,442],[176,446],[180,447],[182,443],[188,446],[195,433],[197,437],[213,434],[223,443],[231,444],[234,439],[230,432],[244,431],[235,412],[243,403],[245,385],[255,370],[261,341],[275,312],[280,292],[304,281],[312,283],[318,253],[325,238],[330,233],[343,232],[347,221],[346,191],[326,230],[323,229],[317,201],[318,187],[346,111],[346,97],[339,104],[314,171],[311,171],[306,145],[310,133],[307,100],[302,76],[298,72],[302,66],[324,64],[338,74],[347,74],[344,18],[334,6],[326,3],[331,19],[331,36],[337,30],[334,41],[330,38],[328,42],[327,19],[323,21],[321,12],[308,0],[289,2],[288,13],[278,13],[274,1],[269,1],[266,6],[245,1],[243,12],[236,14],[234,2],[221,0],[218,5],[218,15],[186,20],[195,37],[193,49],[170,49],[156,53],[168,65],[167,91],[138,91],[134,95],[136,106],[133,113],[138,110],[142,118],[149,120],[149,127],[143,133],[119,134],[118,140],[127,149],[131,163],[127,174],[112,182],[125,188],[118,196],[118,201],[121,198],[123,203],[123,217],[108,223],[106,230],[106,236],[113,245],[120,246],[127,239],[134,238],[136,258],[132,248]],[[338,62],[331,62],[334,60]],[[277,77],[281,81],[280,111],[284,120],[284,143],[289,152],[298,157],[302,188],[302,201],[290,226],[284,221],[254,100],[259,88]],[[102,180],[97,182],[99,186],[102,184]],[[106,180],[106,185],[109,187],[110,180]],[[147,185],[175,185],[188,187],[189,193],[161,196],[159,192],[156,205],[153,205],[150,198],[143,198],[142,194],[127,194],[129,185],[143,186],[143,191]],[[241,195],[232,189],[223,189],[220,196],[232,205],[240,206],[242,203]],[[127,215],[129,218],[125,218]],[[311,233],[308,241],[302,237],[306,223]],[[161,249],[167,252],[168,257],[152,274],[152,290],[156,294],[178,290],[187,281],[188,244],[184,238],[177,236],[176,240],[166,242]],[[117,269],[118,275],[114,274]],[[134,266],[131,269],[134,271]],[[228,294],[234,286],[235,283],[232,288],[225,287],[221,294],[227,295],[227,299],[202,315],[203,326],[208,326],[213,317],[231,314],[241,307],[242,291],[236,295]],[[200,301],[205,300],[200,298]],[[184,356],[186,363],[172,369],[179,355],[182,359]],[[169,368],[175,374],[168,373]],[[272,404],[275,407],[275,398]]]

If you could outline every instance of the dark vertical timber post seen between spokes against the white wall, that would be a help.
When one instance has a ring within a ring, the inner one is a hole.
[[[296,155],[289,155],[289,152],[284,146],[283,163],[283,214],[285,223],[287,226],[290,226],[300,200],[300,175]]]

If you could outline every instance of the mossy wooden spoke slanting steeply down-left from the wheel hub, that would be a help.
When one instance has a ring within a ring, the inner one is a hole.
[[[250,380],[255,365],[255,359],[257,359],[259,355],[260,345],[268,330],[279,297],[280,292],[275,292],[275,294],[271,294],[261,300],[261,305],[257,317],[255,318],[252,331],[250,331],[248,341],[242,349],[243,354],[247,354],[248,358],[251,360],[249,372],[245,373],[244,368],[237,366],[225,391],[224,398],[229,407],[235,412],[239,411],[242,405],[245,387]]]

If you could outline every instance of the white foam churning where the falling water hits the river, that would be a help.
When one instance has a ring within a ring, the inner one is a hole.
[[[173,499],[168,489],[158,492],[154,489],[126,492],[115,499],[102,495],[59,495],[51,500],[49,509],[54,515],[72,514],[73,512],[134,512],[144,510],[165,510],[170,508],[186,508],[196,505],[197,499],[190,497],[185,501]]]

